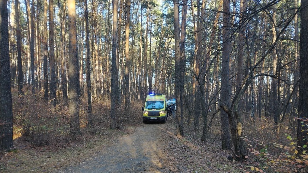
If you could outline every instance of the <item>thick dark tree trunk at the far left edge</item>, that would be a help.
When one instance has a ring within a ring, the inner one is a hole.
[[[10,150],[14,145],[9,23],[7,0],[1,0],[0,2],[0,150]]]

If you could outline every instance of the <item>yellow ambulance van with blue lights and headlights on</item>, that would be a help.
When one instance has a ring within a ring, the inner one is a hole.
[[[166,123],[167,99],[165,95],[150,94],[145,100],[143,111],[143,123],[162,122]]]

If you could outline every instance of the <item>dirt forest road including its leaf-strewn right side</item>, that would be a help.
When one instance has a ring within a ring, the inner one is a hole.
[[[57,173],[244,173],[240,163],[227,159],[219,144],[204,144],[175,135],[174,118],[150,123],[111,141],[79,165]]]

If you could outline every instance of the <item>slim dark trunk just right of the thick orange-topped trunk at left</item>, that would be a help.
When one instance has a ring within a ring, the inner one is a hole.
[[[90,77],[91,68],[90,68],[88,1],[85,0],[84,3],[85,3],[84,17],[86,19],[86,80],[87,80],[87,97],[88,97],[88,127],[90,127],[92,131],[93,123],[92,123],[91,77]]]

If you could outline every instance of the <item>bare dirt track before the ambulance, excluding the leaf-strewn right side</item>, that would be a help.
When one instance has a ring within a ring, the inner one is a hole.
[[[164,169],[161,160],[165,158],[162,147],[167,143],[161,134],[168,124],[151,123],[137,127],[133,134],[115,139],[100,156],[60,173],[161,172]]]

